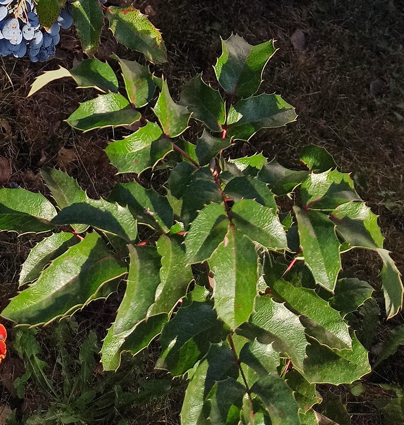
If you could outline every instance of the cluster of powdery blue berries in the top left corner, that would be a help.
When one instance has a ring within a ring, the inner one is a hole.
[[[39,24],[34,0],[0,0],[0,55],[29,56],[44,62],[56,53],[61,28],[69,28],[72,15],[63,8],[51,28]]]

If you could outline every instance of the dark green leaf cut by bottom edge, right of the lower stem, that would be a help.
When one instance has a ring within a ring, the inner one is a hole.
[[[282,378],[272,375],[262,376],[251,387],[251,392],[257,394],[264,402],[272,425],[300,425],[297,403],[292,390]]]

